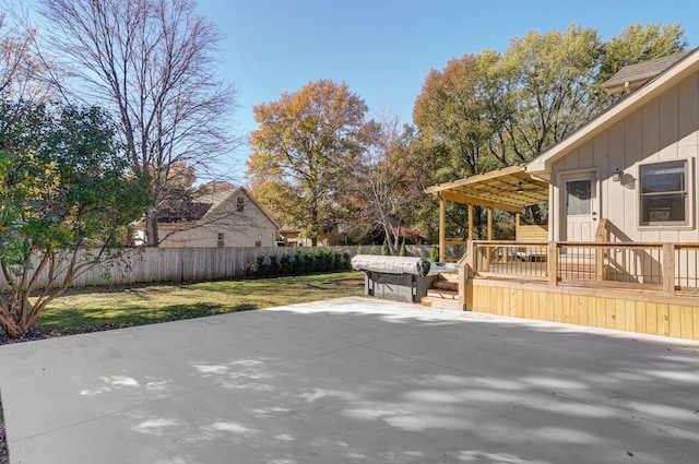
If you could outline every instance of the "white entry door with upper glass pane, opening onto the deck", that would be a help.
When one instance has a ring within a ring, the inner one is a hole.
[[[595,171],[561,175],[562,233],[565,241],[594,241],[600,217]]]

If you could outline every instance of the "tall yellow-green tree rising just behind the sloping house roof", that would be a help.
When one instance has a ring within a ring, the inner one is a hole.
[[[600,111],[600,47],[595,29],[577,25],[510,43],[500,62],[513,111],[501,131],[517,162],[534,158]]]

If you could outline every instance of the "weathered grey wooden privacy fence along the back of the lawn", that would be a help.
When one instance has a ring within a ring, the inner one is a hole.
[[[357,253],[356,246],[343,247],[236,247],[236,248],[130,248],[110,262],[97,264],[75,278],[71,286],[85,287],[93,285],[128,285],[154,282],[206,281],[215,278],[233,278],[242,275],[258,259],[264,254],[276,253],[277,259],[288,251],[292,259],[296,250],[301,254],[316,252],[317,248],[340,250],[350,255]],[[408,254],[429,258],[431,246],[407,246]],[[369,253],[371,246],[363,246],[362,252]],[[381,246],[375,247],[381,252]],[[85,253],[88,251],[85,250]],[[33,260],[34,265],[38,260]],[[57,282],[62,282],[58,279]],[[39,276],[37,288],[47,284],[46,273]],[[7,281],[0,273],[0,288]]]

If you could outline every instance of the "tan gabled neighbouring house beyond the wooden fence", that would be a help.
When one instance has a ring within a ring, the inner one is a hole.
[[[138,223],[137,243],[144,242]],[[162,248],[273,247],[279,225],[242,187],[189,197],[173,190],[158,215]]]

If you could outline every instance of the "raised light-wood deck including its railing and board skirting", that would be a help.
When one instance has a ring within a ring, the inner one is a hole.
[[[512,260],[511,253],[501,251],[510,246],[470,245],[473,254],[460,262],[464,310],[699,340],[696,275],[685,275],[684,264],[675,263],[686,259],[670,252],[684,253],[682,249],[699,245],[652,245],[647,248],[660,251],[643,261],[642,245],[615,243],[616,253],[626,248],[636,258],[636,267],[625,272],[619,272],[621,261],[615,261],[605,246],[590,245],[592,252],[574,261],[558,253],[574,247],[569,243],[547,243],[548,254],[536,260]]]

